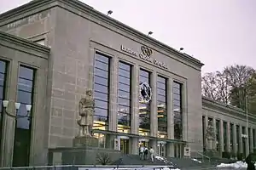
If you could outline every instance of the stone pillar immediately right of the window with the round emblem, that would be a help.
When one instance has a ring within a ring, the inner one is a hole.
[[[156,89],[156,82],[157,82],[157,74],[153,72],[150,77],[150,85],[152,88],[152,99],[150,105],[150,136],[157,137],[158,131],[158,118],[157,118],[157,89]]]

